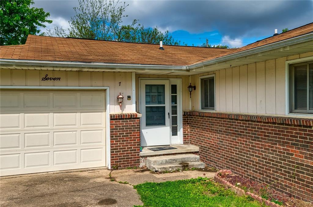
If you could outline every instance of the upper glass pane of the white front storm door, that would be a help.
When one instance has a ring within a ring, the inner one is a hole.
[[[146,85],[146,105],[165,104],[165,85]]]

